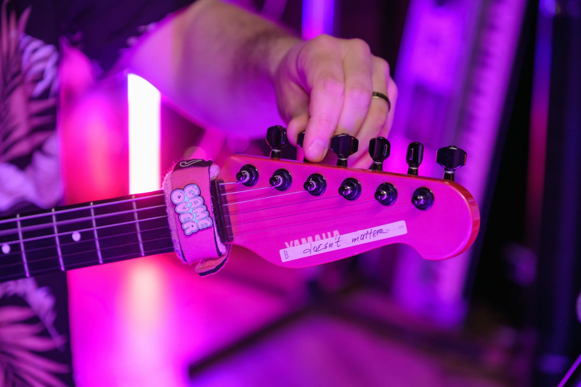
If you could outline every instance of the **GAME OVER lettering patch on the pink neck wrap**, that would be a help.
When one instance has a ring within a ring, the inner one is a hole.
[[[188,184],[184,189],[175,189],[171,191],[170,198],[175,204],[175,212],[179,214],[178,218],[186,235],[214,225],[204,204],[204,198],[200,196],[198,185]]]

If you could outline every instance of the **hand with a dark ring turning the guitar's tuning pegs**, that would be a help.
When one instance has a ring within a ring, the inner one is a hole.
[[[320,35],[293,46],[278,65],[275,89],[290,142],[296,145],[306,131],[303,151],[309,161],[325,157],[332,136],[350,133],[359,140],[359,150],[349,165],[367,168],[369,140],[386,137],[392,126],[397,87],[389,64],[372,55],[361,39]],[[391,110],[384,100],[371,97],[374,91],[389,97]]]

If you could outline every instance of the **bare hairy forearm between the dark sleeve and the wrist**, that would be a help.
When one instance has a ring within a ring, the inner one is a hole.
[[[273,78],[297,42],[237,6],[200,0],[145,37],[129,65],[194,120],[263,135],[281,122]]]

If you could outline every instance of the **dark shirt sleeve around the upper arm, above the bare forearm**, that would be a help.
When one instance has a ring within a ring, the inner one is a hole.
[[[131,41],[152,23],[188,6],[193,0],[69,0],[62,34],[109,71]]]

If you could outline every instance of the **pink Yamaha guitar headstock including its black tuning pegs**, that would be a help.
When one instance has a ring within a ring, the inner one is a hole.
[[[356,151],[353,140],[332,139],[339,164]],[[314,266],[392,243],[410,245],[425,259],[446,259],[465,251],[478,234],[478,205],[453,181],[466,155],[456,147],[438,153],[447,179],[411,174],[421,162],[419,143],[408,149],[407,175],[377,170],[389,155],[383,138],[370,146],[376,169],[281,160],[279,149],[273,146],[271,158],[229,157],[216,182],[220,202],[214,203],[222,209],[223,240],[271,263]]]

